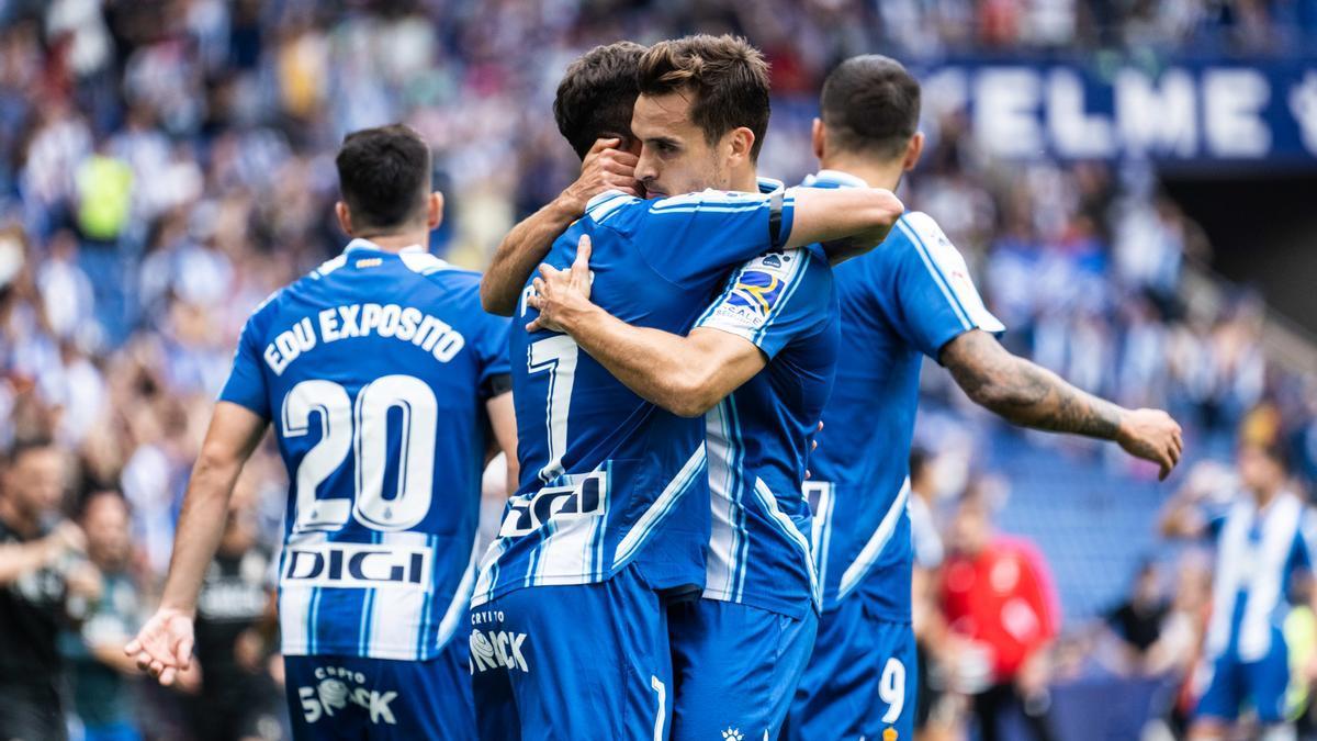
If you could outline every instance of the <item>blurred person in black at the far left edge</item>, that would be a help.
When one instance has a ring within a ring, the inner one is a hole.
[[[63,455],[47,440],[17,443],[0,494],[0,738],[65,738],[59,630],[87,616],[100,578],[82,555],[80,527],[59,512]]]

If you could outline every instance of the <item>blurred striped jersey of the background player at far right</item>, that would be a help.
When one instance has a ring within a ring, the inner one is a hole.
[[[1209,530],[1217,564],[1204,650],[1210,658],[1260,661],[1284,629],[1295,571],[1312,574],[1317,564],[1317,513],[1292,492],[1276,494],[1264,510],[1241,493]]]

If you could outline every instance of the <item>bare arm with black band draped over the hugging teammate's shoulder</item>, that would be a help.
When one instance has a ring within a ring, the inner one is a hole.
[[[792,189],[795,214],[786,247],[822,243],[831,262],[863,254],[886,239],[905,206],[873,187]]]

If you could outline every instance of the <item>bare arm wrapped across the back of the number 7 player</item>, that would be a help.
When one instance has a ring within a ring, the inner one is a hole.
[[[768,363],[749,340],[719,330],[687,336],[633,327],[590,302],[590,237],[582,236],[568,270],[548,265],[528,301],[540,310],[529,328],[572,335],[614,377],[645,400],[682,417],[698,417]]]

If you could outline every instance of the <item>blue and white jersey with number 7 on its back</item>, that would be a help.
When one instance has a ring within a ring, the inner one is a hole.
[[[590,202],[545,262],[590,235],[591,301],[630,324],[686,334],[728,272],[781,247],[794,198],[703,193]],[[531,289],[527,287],[527,291]],[[640,398],[562,334],[528,334],[523,294],[510,357],[522,485],[481,564],[473,605],[512,589],[587,584],[635,563],[656,589],[705,580],[705,429]]]

